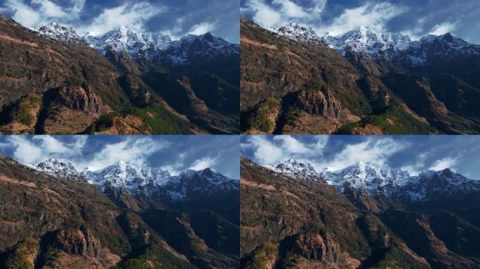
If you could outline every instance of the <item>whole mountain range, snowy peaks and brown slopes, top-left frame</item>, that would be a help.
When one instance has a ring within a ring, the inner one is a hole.
[[[118,27],[79,36],[0,17],[4,134],[239,132],[239,46]]]

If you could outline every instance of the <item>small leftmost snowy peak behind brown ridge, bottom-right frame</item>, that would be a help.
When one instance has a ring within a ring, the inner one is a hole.
[[[269,170],[286,174],[295,179],[308,179],[312,181],[321,181],[325,183],[325,180],[321,175],[316,172],[314,167],[310,163],[301,163],[290,158],[284,162],[276,163],[274,165],[263,165]]]

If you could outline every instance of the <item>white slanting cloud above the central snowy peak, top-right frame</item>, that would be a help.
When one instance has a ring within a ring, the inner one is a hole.
[[[382,32],[389,20],[406,11],[406,8],[388,2],[374,3],[373,1],[367,1],[364,6],[345,9],[342,15],[333,20],[331,25],[320,25],[317,27],[317,31],[335,35],[364,26]]]

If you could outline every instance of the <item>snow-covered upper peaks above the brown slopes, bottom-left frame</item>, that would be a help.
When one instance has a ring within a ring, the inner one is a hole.
[[[29,167],[54,177],[88,181],[102,192],[108,187],[126,191],[133,196],[145,194],[174,201],[239,189],[238,180],[229,179],[208,168],[200,171],[186,170],[178,176],[172,176],[161,168],[140,168],[120,161],[103,169],[90,167],[78,172],[72,163],[55,158],[48,158]]]

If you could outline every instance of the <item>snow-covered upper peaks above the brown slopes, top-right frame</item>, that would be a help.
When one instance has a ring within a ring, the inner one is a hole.
[[[419,41],[412,41],[405,34],[380,33],[360,26],[345,34],[319,36],[311,27],[298,25],[295,22],[271,31],[302,42],[326,43],[344,57],[349,53],[355,53],[360,57],[369,57],[373,60],[387,60],[412,66],[453,60],[455,57],[480,55],[480,46],[449,33],[441,36],[427,35]]]

